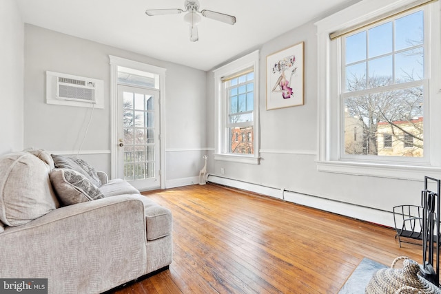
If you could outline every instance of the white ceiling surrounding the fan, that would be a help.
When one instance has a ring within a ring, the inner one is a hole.
[[[147,17],[146,9],[184,8],[184,0],[17,0],[25,23],[156,59],[210,70],[350,0],[199,0],[201,10],[234,15],[235,25],[203,17],[189,41],[184,14]]]

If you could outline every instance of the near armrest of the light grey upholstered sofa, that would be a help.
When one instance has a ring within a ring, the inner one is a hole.
[[[146,274],[146,244],[144,205],[136,197],[73,204],[6,227],[0,277],[48,278],[48,293],[102,293]]]

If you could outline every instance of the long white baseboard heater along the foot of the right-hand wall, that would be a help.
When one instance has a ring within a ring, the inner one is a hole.
[[[265,187],[262,185],[256,185],[249,182],[242,182],[239,180],[233,180],[213,175],[208,176],[208,181],[214,182],[219,185],[252,191],[254,193],[271,196],[273,198],[305,205],[307,207],[313,207],[323,211],[329,211],[331,213],[337,213],[342,216],[348,216],[350,218],[356,218],[358,220],[365,220],[367,222],[373,222],[387,227],[393,227],[393,215],[389,211],[382,211],[380,209],[373,209],[370,207],[362,207],[360,205],[347,202],[340,202],[337,200],[296,193],[293,191],[285,191],[283,189],[276,189],[274,187]]]

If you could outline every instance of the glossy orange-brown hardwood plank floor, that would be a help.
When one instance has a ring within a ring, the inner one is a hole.
[[[392,229],[291,202],[210,184],[143,194],[172,210],[174,260],[116,294],[338,293],[364,257],[422,259]]]

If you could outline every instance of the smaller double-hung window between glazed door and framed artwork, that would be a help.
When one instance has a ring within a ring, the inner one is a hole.
[[[214,71],[216,160],[258,164],[258,51]]]

